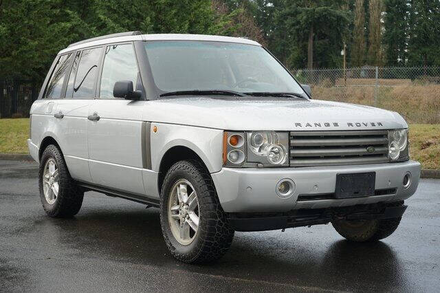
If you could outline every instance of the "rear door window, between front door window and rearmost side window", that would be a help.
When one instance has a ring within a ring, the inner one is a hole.
[[[94,98],[101,49],[94,48],[81,53],[74,83],[74,98]]]

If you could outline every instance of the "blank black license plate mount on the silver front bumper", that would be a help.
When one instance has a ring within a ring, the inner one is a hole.
[[[344,199],[374,195],[375,183],[375,172],[338,174],[335,197]]]

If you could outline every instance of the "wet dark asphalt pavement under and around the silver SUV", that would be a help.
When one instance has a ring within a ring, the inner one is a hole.
[[[86,193],[45,216],[36,164],[0,161],[0,291],[440,291],[440,180],[422,180],[397,231],[373,244],[331,227],[236,232],[210,265],[168,253],[159,211]]]

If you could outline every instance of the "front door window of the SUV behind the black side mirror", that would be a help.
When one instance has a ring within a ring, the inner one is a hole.
[[[113,86],[120,80],[131,80],[136,87],[137,64],[133,45],[111,45],[105,50],[100,98],[114,98]]]

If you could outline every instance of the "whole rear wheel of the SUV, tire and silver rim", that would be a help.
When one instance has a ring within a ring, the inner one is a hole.
[[[39,188],[41,204],[50,217],[72,217],[83,204],[84,192],[70,177],[61,151],[53,144],[41,155]]]

